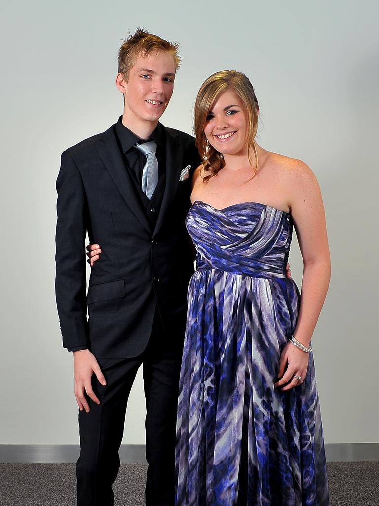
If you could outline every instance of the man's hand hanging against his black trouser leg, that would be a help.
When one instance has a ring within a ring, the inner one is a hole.
[[[99,383],[103,386],[107,385],[105,377],[100,369],[98,361],[89,350],[79,350],[73,352],[74,359],[74,394],[80,411],[83,408],[89,412],[89,405],[85,397],[84,391],[93,402],[100,404],[92,390],[91,377],[95,373]]]

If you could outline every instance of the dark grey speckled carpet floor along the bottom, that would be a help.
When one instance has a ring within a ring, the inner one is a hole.
[[[379,462],[329,462],[330,506],[379,506]],[[145,464],[122,464],[115,506],[144,506]],[[0,463],[0,506],[75,506],[74,464]]]

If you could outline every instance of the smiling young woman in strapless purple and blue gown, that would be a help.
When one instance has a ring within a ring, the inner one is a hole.
[[[310,346],[330,277],[323,204],[306,163],[257,144],[258,113],[241,72],[211,75],[196,100],[177,506],[328,504]],[[301,297],[285,271],[293,226]]]

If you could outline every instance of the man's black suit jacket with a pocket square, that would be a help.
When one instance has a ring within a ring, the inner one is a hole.
[[[154,230],[135,195],[115,125],[62,153],[56,297],[63,346],[69,350],[88,348],[101,358],[135,357],[147,345],[157,307],[168,339],[182,346],[194,260],[184,219],[200,157],[193,137],[163,128],[166,187]],[[179,182],[187,165],[191,174]],[[87,231],[102,255],[91,269],[86,294]]]

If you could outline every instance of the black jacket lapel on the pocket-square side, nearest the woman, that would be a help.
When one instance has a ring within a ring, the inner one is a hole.
[[[182,168],[180,165],[182,160],[182,151],[183,148],[179,139],[177,137],[173,137],[166,129],[166,188],[163,194],[157,224],[154,229],[154,235],[162,226],[169,203],[175,195],[176,187],[179,182],[180,170]]]

